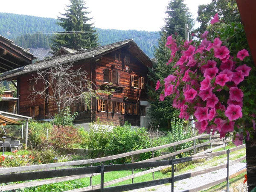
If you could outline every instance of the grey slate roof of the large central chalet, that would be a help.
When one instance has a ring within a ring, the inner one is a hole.
[[[64,64],[64,63],[75,62],[75,61],[79,61],[79,60],[83,60],[83,59],[92,59],[97,56],[107,54],[108,52],[119,49],[126,45],[130,45],[133,48],[133,51],[136,51],[137,54],[135,56],[140,61],[142,61],[142,60],[145,61],[145,62],[142,61],[143,64],[145,64],[148,67],[152,66],[152,61],[150,60],[150,58],[140,49],[140,47],[137,46],[137,44],[132,39],[128,39],[125,41],[120,41],[120,42],[105,45],[102,47],[96,47],[93,49],[82,50],[79,52],[66,54],[66,55],[62,55],[62,56],[53,56],[52,58],[49,58],[47,60],[37,61],[34,64],[26,65],[24,67],[24,69],[21,71],[18,71],[16,73],[14,72],[12,74],[8,74],[8,75],[2,77],[1,79],[9,79],[11,77],[19,76],[19,75],[30,73],[33,71],[44,70],[56,63]]]

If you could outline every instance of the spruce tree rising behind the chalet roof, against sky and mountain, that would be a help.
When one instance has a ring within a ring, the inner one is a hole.
[[[70,5],[65,9],[66,13],[61,14],[64,17],[58,17],[59,26],[63,27],[64,32],[59,32],[52,39],[51,49],[53,52],[60,47],[70,49],[94,48],[99,46],[98,34],[93,27],[93,23],[88,23],[92,18],[88,17],[83,0],[70,0]]]

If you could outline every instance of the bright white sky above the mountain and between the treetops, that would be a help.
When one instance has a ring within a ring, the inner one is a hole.
[[[137,29],[159,31],[169,0],[85,0],[94,26],[102,29]],[[198,5],[211,0],[185,0],[189,11],[196,19]],[[69,0],[4,0],[0,12],[57,18],[64,13]],[[200,26],[195,23],[195,28]]]

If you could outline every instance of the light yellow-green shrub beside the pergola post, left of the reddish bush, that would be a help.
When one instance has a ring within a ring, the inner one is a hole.
[[[47,129],[48,135],[52,132],[52,125],[49,122],[39,123],[29,121],[29,144],[31,148],[40,147],[47,143]]]

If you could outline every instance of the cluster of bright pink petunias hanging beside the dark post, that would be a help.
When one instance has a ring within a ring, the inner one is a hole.
[[[220,22],[216,14],[212,23]],[[194,116],[199,133],[218,131],[221,137],[234,131],[236,120],[243,116],[243,91],[239,84],[251,70],[243,64],[249,56],[243,49],[231,56],[230,50],[219,38],[210,41],[209,32],[204,32],[200,44],[185,41],[177,45],[171,35],[166,47],[171,49],[169,63],[175,61],[175,73],[164,79],[160,101],[172,96],[173,107],[180,110],[180,118]],[[179,57],[176,53],[180,52]],[[239,61],[239,60],[240,61]],[[157,82],[156,90],[162,85]]]

